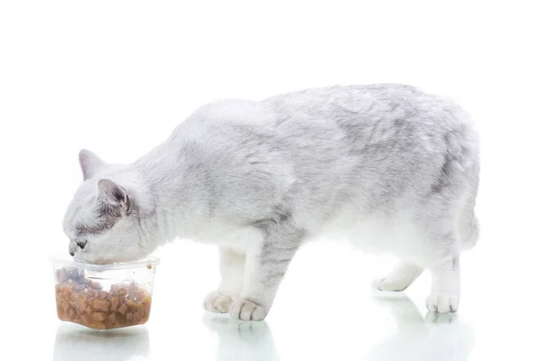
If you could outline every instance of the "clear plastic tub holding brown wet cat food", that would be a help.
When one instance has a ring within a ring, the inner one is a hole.
[[[59,319],[90,329],[143,325],[151,314],[157,258],[126,264],[84,264],[51,257]]]

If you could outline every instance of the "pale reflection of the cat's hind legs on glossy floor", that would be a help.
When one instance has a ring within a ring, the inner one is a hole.
[[[367,360],[468,360],[473,345],[472,329],[456,314],[427,313],[424,319],[404,293],[379,294],[375,300],[388,308],[397,332],[375,347]]]

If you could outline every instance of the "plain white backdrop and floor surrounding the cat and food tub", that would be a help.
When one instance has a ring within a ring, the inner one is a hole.
[[[3,0],[0,358],[539,359],[536,3]],[[451,323],[423,319],[427,274],[407,296],[375,298],[369,282],[394,260],[325,241],[296,256],[266,322],[216,318],[201,300],[218,282],[217,255],[181,240],[157,253],[145,327],[61,326],[48,256],[67,251],[61,219],[80,148],[132,162],[202,103],[372,82],[455,97],[481,134],[482,236],[463,257]]]

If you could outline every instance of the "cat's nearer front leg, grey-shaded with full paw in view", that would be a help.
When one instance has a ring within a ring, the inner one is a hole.
[[[266,318],[304,234],[289,224],[264,224],[262,231],[264,236],[246,255],[243,289],[229,309],[234,319]]]

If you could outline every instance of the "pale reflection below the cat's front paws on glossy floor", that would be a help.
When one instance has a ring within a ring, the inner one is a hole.
[[[266,321],[242,322],[228,314],[205,313],[203,323],[219,336],[217,360],[279,360]]]

